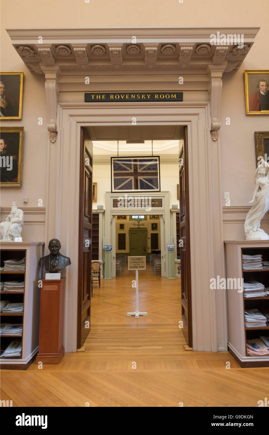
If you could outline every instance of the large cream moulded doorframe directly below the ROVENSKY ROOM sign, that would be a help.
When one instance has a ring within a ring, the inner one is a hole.
[[[133,117],[140,125],[188,126],[193,350],[227,350],[226,292],[209,288],[225,270],[220,143],[210,137],[208,101],[58,104],[57,141],[47,154],[46,243],[59,238],[72,262],[65,271],[65,349],[76,351],[80,127],[130,126]]]

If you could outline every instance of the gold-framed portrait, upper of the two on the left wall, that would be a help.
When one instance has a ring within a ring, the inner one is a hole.
[[[21,119],[23,103],[23,72],[0,73],[1,119]]]

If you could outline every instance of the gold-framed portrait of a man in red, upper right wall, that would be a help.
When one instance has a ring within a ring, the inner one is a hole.
[[[269,115],[269,70],[245,70],[246,114]]]

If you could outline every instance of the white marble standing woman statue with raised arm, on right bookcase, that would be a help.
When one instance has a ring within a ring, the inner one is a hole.
[[[269,235],[260,228],[261,219],[269,210],[269,164],[263,159],[255,172],[255,191],[249,204],[253,204],[255,199],[255,204],[246,215],[246,240],[269,240]]]

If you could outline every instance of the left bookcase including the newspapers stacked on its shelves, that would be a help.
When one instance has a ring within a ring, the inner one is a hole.
[[[38,351],[43,242],[1,242],[0,364],[27,369]]]

